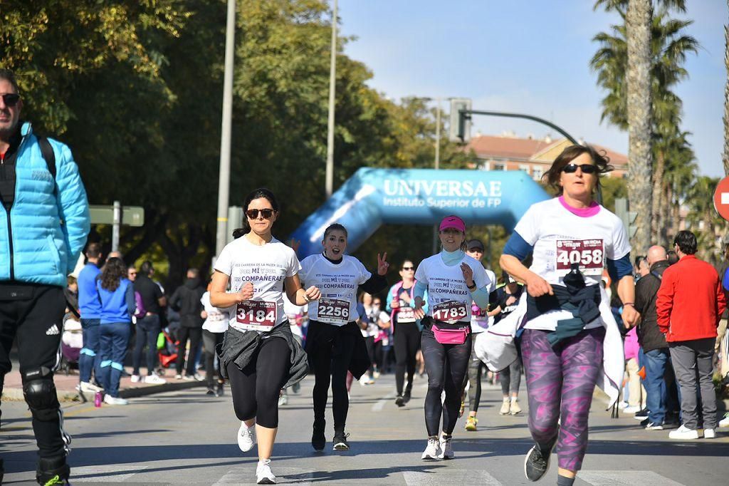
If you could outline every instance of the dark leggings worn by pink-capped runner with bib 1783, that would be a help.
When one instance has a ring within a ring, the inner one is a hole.
[[[443,432],[453,433],[461,408],[461,392],[471,358],[471,335],[463,344],[440,344],[435,340],[429,323],[423,329],[423,358],[428,371],[428,393],[425,396],[425,426],[428,436],[438,435],[440,416]],[[445,403],[440,396],[445,389]],[[443,406],[445,404],[445,407]]]

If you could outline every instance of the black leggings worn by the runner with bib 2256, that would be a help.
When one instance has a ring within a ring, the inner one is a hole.
[[[312,320],[309,322],[308,336],[315,336],[308,340],[306,352],[309,363],[314,369],[314,423],[323,425],[324,412],[327,409],[329,385],[332,385],[332,414],[334,414],[334,429],[342,430],[347,421],[349,397],[347,396],[347,370],[354,353],[356,334],[348,332],[345,328],[354,325],[348,323],[337,326]],[[314,330],[312,333],[311,331]],[[357,331],[359,332],[359,331]]]

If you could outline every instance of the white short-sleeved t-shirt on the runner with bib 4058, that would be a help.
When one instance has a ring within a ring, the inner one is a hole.
[[[532,204],[514,228],[527,243],[534,245],[531,271],[551,285],[564,285],[570,263],[578,263],[585,284],[600,285],[605,259],[620,260],[631,251],[625,227],[616,215],[600,206],[592,216],[580,217],[552,198]],[[571,312],[555,310],[535,317],[528,329],[553,331],[557,321],[569,319]],[[600,319],[585,326],[598,328]]]

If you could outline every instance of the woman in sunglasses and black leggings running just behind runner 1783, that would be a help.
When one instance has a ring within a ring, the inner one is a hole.
[[[395,352],[395,404],[405,406],[410,401],[415,377],[416,356],[420,349],[420,326],[413,312],[415,301],[415,265],[410,260],[402,262],[400,280],[387,293],[387,310],[390,312],[393,348]],[[427,301],[427,298],[426,298]],[[425,311],[428,308],[426,306]],[[405,386],[405,371],[408,385]],[[404,388],[404,390],[403,390]]]

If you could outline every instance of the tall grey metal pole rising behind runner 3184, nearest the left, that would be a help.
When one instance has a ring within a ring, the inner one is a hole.
[[[225,75],[223,77],[223,113],[220,133],[220,175],[218,179],[218,217],[215,234],[215,255],[225,247],[227,207],[230,193],[230,131],[233,119],[233,53],[235,50],[235,0],[227,3],[225,27]]]

